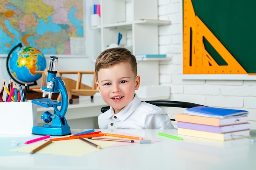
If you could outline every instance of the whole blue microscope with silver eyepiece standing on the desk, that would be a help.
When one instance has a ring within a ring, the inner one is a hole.
[[[43,126],[33,126],[32,134],[35,135],[63,136],[71,134],[70,126],[67,124],[67,120],[64,117],[68,106],[67,89],[61,77],[56,76],[57,63],[58,57],[51,56],[47,71],[46,86],[40,88],[40,91],[43,92],[43,98],[31,100],[31,102],[36,105],[54,108],[53,114],[49,111],[45,111],[41,116],[41,119],[47,124]],[[58,92],[61,94],[61,101],[52,100],[52,93]],[[46,95],[48,95],[48,98],[46,98]],[[49,122],[52,122],[52,124],[48,124]]]

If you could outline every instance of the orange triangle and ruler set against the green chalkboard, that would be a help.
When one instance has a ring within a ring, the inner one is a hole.
[[[227,65],[219,65],[206,50],[205,38]],[[223,44],[195,15],[191,0],[183,6],[183,74],[247,74]]]

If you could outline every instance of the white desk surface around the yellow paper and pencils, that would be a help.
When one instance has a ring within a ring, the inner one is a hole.
[[[82,130],[72,130],[77,133]],[[19,170],[240,170],[254,169],[256,143],[248,138],[219,142],[209,139],[182,136],[183,140],[157,135],[158,132],[177,135],[177,130],[101,130],[106,133],[125,132],[160,140],[151,144],[111,147],[82,157],[16,153],[13,139],[0,137],[0,169]],[[256,140],[256,130],[251,131]],[[22,137],[35,138],[29,135]]]

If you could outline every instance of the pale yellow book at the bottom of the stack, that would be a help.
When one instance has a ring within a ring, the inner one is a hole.
[[[236,132],[230,132],[230,133],[212,133],[212,132],[197,131],[192,129],[178,128],[178,134],[192,136],[192,137],[200,137],[205,139],[213,139],[218,141],[227,141],[227,140],[251,137],[250,130],[236,131]]]

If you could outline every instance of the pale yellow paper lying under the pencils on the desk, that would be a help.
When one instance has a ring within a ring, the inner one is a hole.
[[[94,144],[99,145],[101,149],[104,149],[119,143],[115,141],[101,141],[101,140],[91,140],[91,139],[87,139],[87,140],[89,140],[90,142],[93,142]],[[30,153],[31,150],[34,150],[35,148],[42,145],[43,143],[45,143],[45,141],[29,144],[26,146],[12,149],[10,151]],[[86,142],[83,142],[80,139],[71,139],[71,140],[53,141],[51,144],[45,146],[44,148],[37,151],[36,153],[68,155],[68,156],[83,156],[99,150],[100,149]]]

